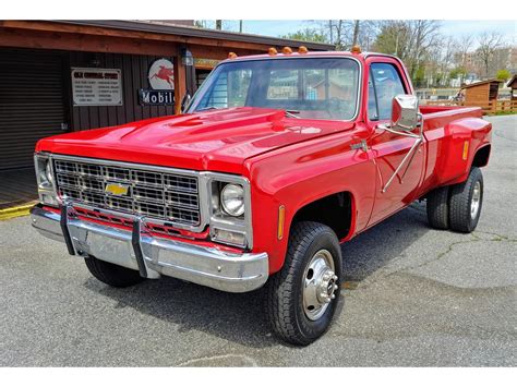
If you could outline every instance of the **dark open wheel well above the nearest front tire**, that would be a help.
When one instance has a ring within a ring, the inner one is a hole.
[[[339,192],[305,205],[292,218],[291,227],[296,222],[304,220],[328,226],[338,239],[347,237],[352,220],[351,194]]]

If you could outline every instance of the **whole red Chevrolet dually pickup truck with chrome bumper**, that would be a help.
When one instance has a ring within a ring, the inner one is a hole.
[[[274,331],[309,344],[336,311],[340,243],[423,198],[434,228],[478,223],[491,124],[419,108],[395,57],[232,56],[185,105],[36,146],[32,225],[103,282],[265,286]]]

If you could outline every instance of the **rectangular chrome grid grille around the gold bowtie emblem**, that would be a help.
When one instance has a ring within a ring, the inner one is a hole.
[[[195,176],[59,158],[53,159],[53,170],[59,195],[74,203],[187,226],[201,223]],[[118,184],[127,193],[109,193],[107,184]]]

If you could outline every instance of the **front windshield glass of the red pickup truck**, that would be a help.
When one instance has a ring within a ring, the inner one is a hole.
[[[258,107],[299,118],[351,120],[358,84],[359,63],[348,58],[226,62],[206,78],[188,112]]]

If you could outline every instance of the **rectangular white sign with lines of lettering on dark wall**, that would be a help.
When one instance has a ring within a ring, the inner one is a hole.
[[[122,105],[122,74],[118,69],[72,69],[74,106]]]

